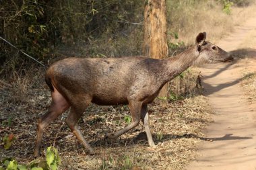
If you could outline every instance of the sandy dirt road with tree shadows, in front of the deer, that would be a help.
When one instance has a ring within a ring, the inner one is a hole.
[[[206,140],[198,149],[197,160],[187,169],[255,170],[256,105],[248,103],[240,81],[245,69],[256,70],[256,17],[237,27],[218,46],[234,53],[243,51],[247,61],[236,58],[232,64],[203,68],[203,86],[214,110],[214,122],[205,130]]]

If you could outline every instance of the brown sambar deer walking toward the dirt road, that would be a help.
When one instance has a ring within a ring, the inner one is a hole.
[[[228,52],[205,41],[199,33],[195,45],[177,56],[157,60],[143,56],[123,58],[65,58],[46,71],[52,103],[38,120],[34,156],[39,156],[43,129],[71,108],[66,123],[82,144],[93,153],[90,144],[77,128],[77,121],[89,103],[98,105],[129,104],[132,122],[123,130],[107,134],[117,138],[135,128],[142,120],[148,143],[154,147],[148,124],[147,104],[152,103],[160,89],[193,64],[232,60]]]

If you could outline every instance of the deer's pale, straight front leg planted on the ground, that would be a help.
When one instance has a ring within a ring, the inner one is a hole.
[[[152,138],[152,134],[150,132],[150,126],[148,124],[148,107],[147,105],[143,105],[142,109],[141,109],[141,120],[144,124],[145,127],[145,131],[148,137],[148,144],[150,144],[150,147],[155,148],[156,145],[154,144],[153,138]]]

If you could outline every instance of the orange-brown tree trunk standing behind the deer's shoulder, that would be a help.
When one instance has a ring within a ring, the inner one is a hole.
[[[146,0],[144,9],[143,52],[151,58],[166,58],[166,0]],[[168,85],[164,85],[158,97],[162,106],[167,105]]]

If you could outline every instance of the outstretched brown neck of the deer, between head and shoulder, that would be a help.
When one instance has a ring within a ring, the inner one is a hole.
[[[191,67],[191,65],[193,65],[193,63],[199,56],[199,52],[197,52],[195,48],[197,47],[192,46],[181,54],[167,58],[165,60],[166,65],[163,71],[164,83],[174,79],[175,77],[183,73],[183,71]]]

